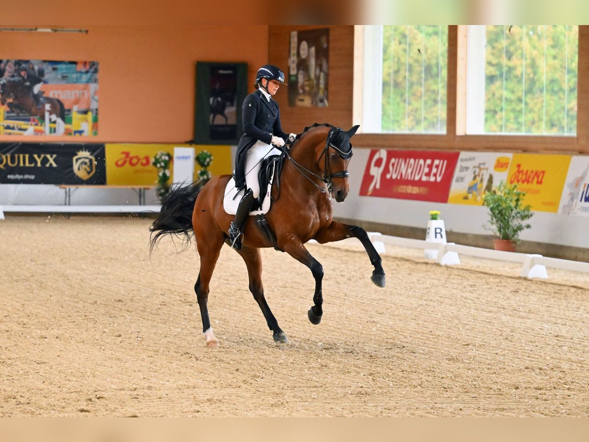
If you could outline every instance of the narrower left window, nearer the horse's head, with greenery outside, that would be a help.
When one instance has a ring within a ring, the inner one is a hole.
[[[448,26],[366,26],[363,131],[446,133]]]

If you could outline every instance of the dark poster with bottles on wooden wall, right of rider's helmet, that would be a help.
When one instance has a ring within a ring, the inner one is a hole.
[[[329,29],[290,32],[289,105],[327,106]]]

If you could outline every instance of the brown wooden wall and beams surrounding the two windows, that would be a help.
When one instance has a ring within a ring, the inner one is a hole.
[[[289,36],[303,26],[269,27],[269,60],[287,69]],[[329,35],[329,106],[326,108],[289,107],[286,93],[279,91],[283,126],[299,131],[313,122],[327,122],[350,127],[352,122],[354,32],[353,26],[330,26]],[[358,29],[356,29],[358,31]],[[356,60],[362,60],[356,54]],[[577,136],[504,136],[465,135],[466,27],[450,26],[448,31],[448,109],[446,134],[356,134],[355,147],[440,149],[474,151],[527,151],[544,153],[589,154],[589,26],[579,27],[579,72],[577,98]],[[457,78],[460,81],[456,81]],[[458,87],[457,87],[458,83]],[[356,91],[358,97],[361,92]]]

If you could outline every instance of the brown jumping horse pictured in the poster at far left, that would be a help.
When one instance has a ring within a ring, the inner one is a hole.
[[[37,105],[31,88],[22,83],[22,80],[5,80],[0,84],[0,103],[6,104],[8,99],[8,108],[18,114],[27,114],[33,117],[45,118],[45,106]],[[44,104],[49,105],[49,114],[58,116],[65,123],[65,106],[61,100],[53,97],[42,97]]]

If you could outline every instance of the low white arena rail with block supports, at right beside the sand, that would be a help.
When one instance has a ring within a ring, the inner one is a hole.
[[[519,262],[522,264],[520,276],[522,278],[547,279],[546,267],[552,267],[573,272],[589,273],[589,263],[569,261],[566,259],[548,258],[547,256],[528,253],[503,252],[501,250],[482,249],[471,246],[463,246],[453,242],[439,243],[421,239],[401,238],[399,236],[382,235],[377,232],[368,232],[370,241],[379,253],[385,253],[385,243],[393,246],[432,250],[436,253],[436,262],[439,265],[459,264],[458,254],[476,256],[477,258],[496,259],[501,261]],[[346,239],[355,240],[355,239]],[[315,242],[311,240],[310,242]]]

